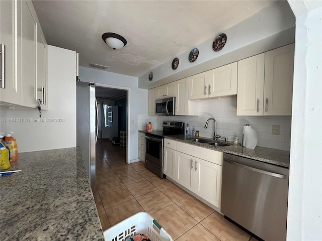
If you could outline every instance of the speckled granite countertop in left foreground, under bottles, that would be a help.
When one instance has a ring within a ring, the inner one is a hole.
[[[78,148],[19,153],[15,169],[0,178],[0,240],[104,240]]]

